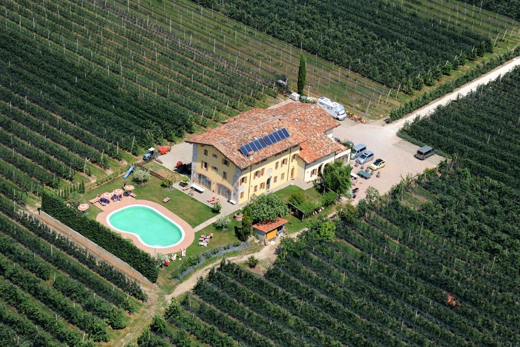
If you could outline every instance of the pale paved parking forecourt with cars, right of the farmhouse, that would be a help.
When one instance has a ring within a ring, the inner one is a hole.
[[[354,144],[365,144],[367,149],[374,152],[374,160],[381,158],[386,161],[386,166],[379,171],[381,177],[375,174],[369,179],[359,177],[353,187],[359,188],[356,201],[365,198],[368,187],[374,187],[384,194],[390,188],[401,181],[401,176],[407,174],[418,174],[426,168],[434,168],[443,157],[434,155],[427,160],[418,160],[413,157],[418,149],[415,146],[395,134],[391,127],[379,125],[354,123],[350,120],[341,122],[341,125],[334,129],[334,137],[341,140],[351,140]],[[373,161],[369,162],[370,165]],[[350,160],[352,172],[357,173],[361,170],[361,165],[354,166],[355,161]],[[365,168],[367,165],[365,166]]]

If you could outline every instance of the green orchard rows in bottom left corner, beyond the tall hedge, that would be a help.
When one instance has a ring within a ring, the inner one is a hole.
[[[94,346],[109,341],[142,309],[129,294],[139,300],[147,295],[112,265],[97,262],[18,211],[12,200],[20,191],[5,188],[0,189],[2,345]]]

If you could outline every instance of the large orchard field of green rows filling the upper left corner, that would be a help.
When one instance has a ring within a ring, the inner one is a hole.
[[[276,95],[258,73],[98,5],[2,4],[0,174],[33,195],[102,181],[143,147]]]

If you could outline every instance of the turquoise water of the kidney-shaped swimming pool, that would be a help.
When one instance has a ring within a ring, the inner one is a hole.
[[[145,206],[132,205],[110,213],[108,224],[120,232],[136,235],[146,246],[162,248],[179,243],[184,230],[177,223]]]

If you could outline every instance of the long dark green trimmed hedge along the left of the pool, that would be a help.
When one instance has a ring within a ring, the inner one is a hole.
[[[42,210],[128,263],[150,281],[157,281],[159,269],[150,254],[82,212],[68,207],[60,197],[43,191]]]

